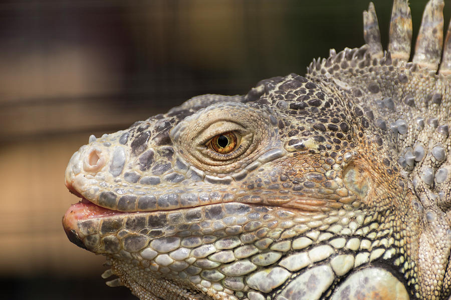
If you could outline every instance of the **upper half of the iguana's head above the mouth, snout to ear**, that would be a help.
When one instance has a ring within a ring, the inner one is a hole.
[[[92,137],[72,157],[66,183],[119,211],[241,202],[316,213],[352,205],[338,173],[358,155],[358,128],[338,90],[318,83],[290,74],[247,96],[197,96]]]

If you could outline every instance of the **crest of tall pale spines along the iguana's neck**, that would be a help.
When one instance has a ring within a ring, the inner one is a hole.
[[[415,44],[413,59],[407,66],[416,70],[419,66],[425,70],[437,71],[441,75],[451,74],[451,22],[448,26],[443,44],[443,0],[430,0],[424,8],[421,26]],[[390,20],[388,51],[384,52],[380,41],[380,31],[374,4],[370,2],[368,10],[363,12],[363,29],[366,44],[360,48],[346,48],[338,54],[331,50],[327,59],[314,59],[307,67],[309,74],[317,71],[324,74],[332,66],[355,63],[356,58],[361,66],[391,64],[392,59],[407,62],[410,57],[412,40],[412,17],[407,0],[394,0]],[[443,50],[443,53],[442,53]],[[354,61],[354,62],[353,62]],[[335,65],[334,65],[335,64]],[[396,62],[393,62],[396,65]],[[332,72],[329,72],[333,74]]]

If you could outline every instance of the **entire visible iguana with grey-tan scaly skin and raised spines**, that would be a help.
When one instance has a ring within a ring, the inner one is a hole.
[[[427,4],[413,62],[407,2],[395,0],[387,52],[370,4],[366,44],[305,76],[91,136],[66,169],[83,197],[63,218],[69,239],[140,299],[446,299],[442,7]]]

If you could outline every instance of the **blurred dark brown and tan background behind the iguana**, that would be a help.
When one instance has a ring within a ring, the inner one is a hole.
[[[244,94],[363,44],[368,0],[0,2],[0,290],[4,299],[135,299],[61,217],[72,153],[202,93]],[[414,32],[425,1],[412,4]],[[387,44],[391,1],[375,1]],[[445,7],[445,25],[451,5]],[[416,35],[415,35],[416,36]]]

